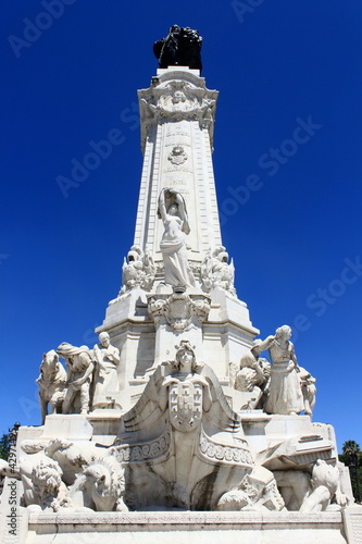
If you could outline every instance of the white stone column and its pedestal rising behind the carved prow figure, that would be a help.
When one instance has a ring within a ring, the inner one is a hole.
[[[185,65],[160,67],[138,91],[143,168],[135,237],[123,287],[97,329],[121,351],[121,391],[143,387],[183,339],[226,386],[230,363],[259,333],[222,245],[212,164],[217,96],[198,67]]]

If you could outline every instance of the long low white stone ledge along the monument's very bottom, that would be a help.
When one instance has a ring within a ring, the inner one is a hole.
[[[358,544],[361,508],[335,512],[73,512],[29,516],[25,544]]]

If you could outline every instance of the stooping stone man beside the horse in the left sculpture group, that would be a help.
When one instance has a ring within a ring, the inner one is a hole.
[[[66,361],[66,394],[63,400],[63,413],[76,413],[76,401],[80,400],[80,413],[88,413],[90,404],[90,383],[93,372],[87,346],[75,347],[63,342],[57,354]]]

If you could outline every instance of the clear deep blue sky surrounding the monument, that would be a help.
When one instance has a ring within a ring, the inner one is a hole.
[[[362,446],[360,0],[0,9],[0,432],[39,424],[42,353],[91,346],[118,293],[142,164],[136,90],[155,75],[153,41],[179,24],[200,30],[202,75],[221,91],[214,169],[238,296],[262,337],[297,329],[314,421]],[[64,198],[57,178],[113,128],[122,141]]]

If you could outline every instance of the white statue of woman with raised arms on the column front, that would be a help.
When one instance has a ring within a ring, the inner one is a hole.
[[[158,215],[164,226],[160,244],[164,282],[174,288],[194,286],[194,274],[187,260],[185,235],[189,234],[190,227],[184,197],[175,189],[163,188],[159,197]]]

